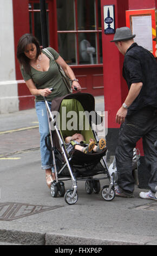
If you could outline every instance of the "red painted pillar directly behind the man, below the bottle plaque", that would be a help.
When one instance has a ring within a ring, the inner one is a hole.
[[[105,110],[108,111],[108,127],[118,128],[115,116],[128,89],[122,77],[123,56],[114,42],[110,42],[114,34],[104,34],[103,5],[109,4],[115,5],[115,27],[117,28],[126,26],[125,11],[128,9],[128,1],[101,0],[104,105]]]

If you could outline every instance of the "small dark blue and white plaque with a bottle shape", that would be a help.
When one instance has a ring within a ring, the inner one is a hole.
[[[103,5],[104,34],[115,33],[114,4]]]

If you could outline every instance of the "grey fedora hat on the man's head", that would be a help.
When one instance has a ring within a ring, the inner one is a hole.
[[[132,35],[128,27],[121,27],[116,29],[114,39],[110,42],[126,41],[129,39],[133,39],[135,36],[136,35]]]

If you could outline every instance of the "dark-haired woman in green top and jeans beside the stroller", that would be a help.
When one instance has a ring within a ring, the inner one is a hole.
[[[72,89],[75,87],[80,92],[81,87],[75,78],[73,70],[62,57],[51,47],[48,47],[47,50],[53,54],[54,58],[51,58],[41,50],[40,44],[34,35],[24,34],[18,41],[17,59],[21,67],[22,76],[30,93],[36,99],[35,107],[39,121],[42,169],[45,169],[47,185],[50,187],[51,182],[55,179],[55,173],[53,157],[44,142],[49,133],[49,126],[43,96],[47,97],[51,108],[51,101],[55,97],[68,94],[57,64],[62,66],[62,69],[70,78]],[[53,92],[50,90],[52,87],[54,89]]]

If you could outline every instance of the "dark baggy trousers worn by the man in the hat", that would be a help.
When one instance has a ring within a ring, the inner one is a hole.
[[[145,162],[151,173],[148,186],[156,192],[157,186],[157,150],[154,143],[157,138],[157,117],[153,107],[145,107],[135,114],[128,115],[120,127],[119,139],[115,151],[116,168],[118,174],[117,184],[130,195],[134,191],[134,178],[132,175],[133,149],[136,142],[142,138]]]

